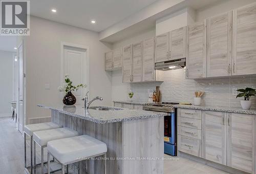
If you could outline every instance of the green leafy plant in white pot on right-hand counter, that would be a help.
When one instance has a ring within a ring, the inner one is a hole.
[[[241,106],[244,110],[249,110],[251,108],[251,101],[250,98],[251,96],[256,96],[256,91],[255,89],[252,88],[246,88],[246,89],[239,89],[237,90],[238,92],[241,92],[237,95],[238,97],[244,97],[244,100],[241,100]]]

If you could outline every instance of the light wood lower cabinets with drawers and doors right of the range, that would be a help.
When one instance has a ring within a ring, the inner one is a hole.
[[[255,174],[256,116],[196,111],[178,108],[178,151]]]

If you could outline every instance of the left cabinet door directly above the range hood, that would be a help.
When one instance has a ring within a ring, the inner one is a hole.
[[[156,36],[155,39],[155,62],[169,59],[169,32]]]

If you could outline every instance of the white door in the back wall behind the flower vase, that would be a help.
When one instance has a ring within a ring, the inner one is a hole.
[[[64,76],[69,74],[69,78],[73,82],[74,86],[80,83],[86,84],[86,63],[86,50],[66,46],[64,47]],[[81,99],[84,97],[85,92],[86,89],[72,91],[76,96],[76,103],[82,102]]]

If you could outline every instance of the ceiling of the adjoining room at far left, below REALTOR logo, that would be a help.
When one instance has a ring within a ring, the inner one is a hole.
[[[16,36],[0,36],[0,50],[16,52]]]

